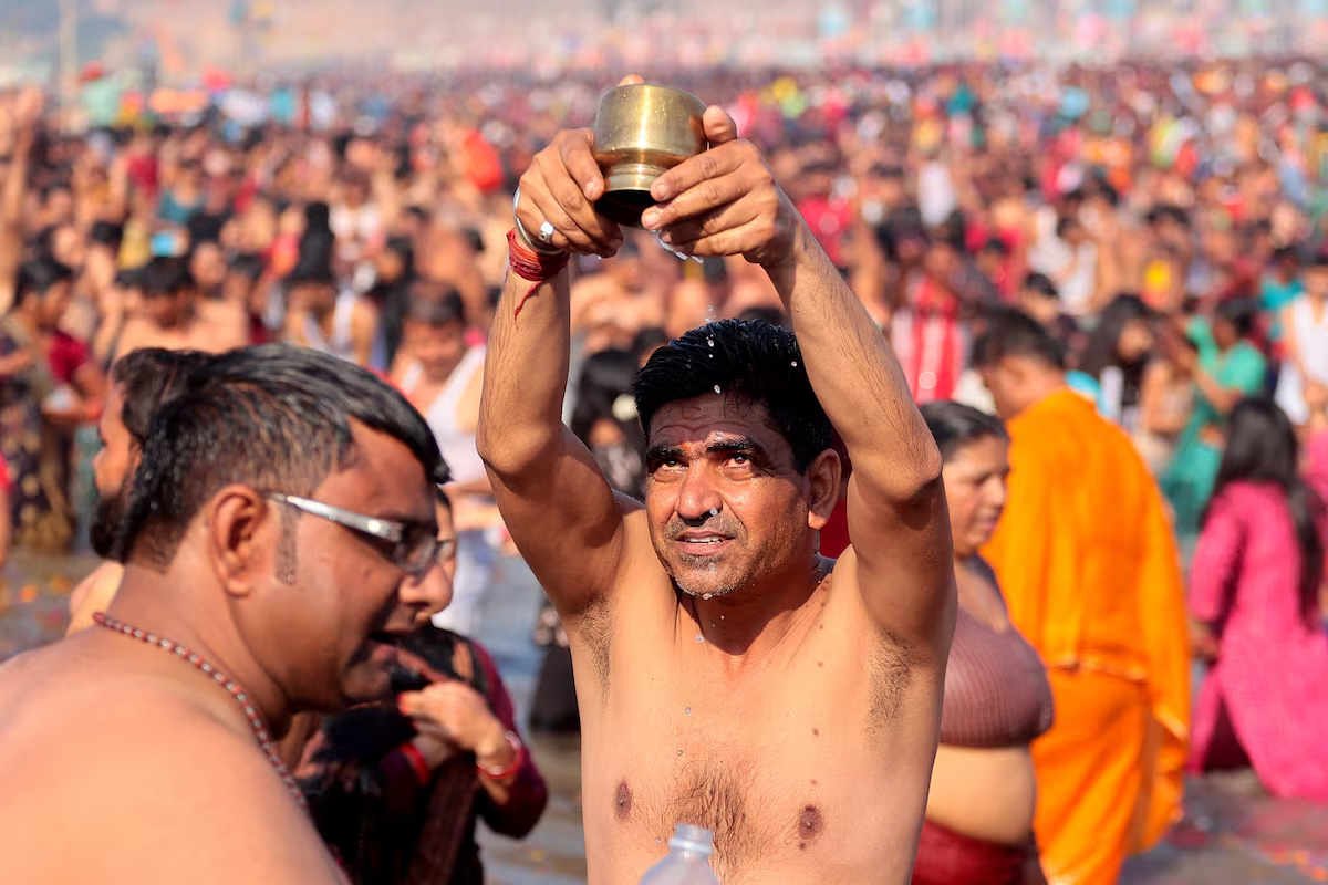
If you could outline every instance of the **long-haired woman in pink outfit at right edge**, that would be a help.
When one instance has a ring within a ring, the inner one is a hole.
[[[1328,800],[1325,524],[1297,467],[1287,415],[1238,403],[1190,575],[1195,647],[1212,659],[1190,767],[1252,764],[1274,795]]]

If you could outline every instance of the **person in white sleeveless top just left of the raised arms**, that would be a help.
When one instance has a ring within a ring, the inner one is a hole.
[[[452,468],[446,492],[457,516],[457,580],[452,605],[433,622],[474,636],[498,557],[491,528],[502,523],[475,448],[485,348],[467,348],[465,333],[465,306],[454,289],[413,285],[393,381],[424,414]]]

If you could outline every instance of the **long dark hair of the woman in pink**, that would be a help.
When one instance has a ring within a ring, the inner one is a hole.
[[[1300,447],[1291,419],[1270,399],[1246,398],[1227,418],[1227,444],[1203,521],[1212,502],[1236,482],[1266,482],[1282,487],[1300,547],[1300,616],[1319,630],[1319,585],[1324,575],[1324,541],[1319,525],[1324,502],[1300,479]]]

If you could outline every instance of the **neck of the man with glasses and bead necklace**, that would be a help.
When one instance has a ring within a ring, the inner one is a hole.
[[[244,647],[240,637],[235,634],[230,618],[224,613],[205,610],[195,605],[191,598],[182,596],[181,588],[186,585],[194,586],[199,594],[210,594],[215,600],[222,600],[222,589],[198,586],[197,575],[190,576],[186,581],[175,573],[175,569],[158,572],[137,564],[125,567],[125,577],[106,613],[145,633],[155,633],[189,649],[191,654],[197,654],[202,661],[242,686],[262,714],[272,739],[279,739],[291,724],[291,711],[284,694]],[[181,659],[181,683],[195,685],[197,679],[193,679],[190,673],[193,669],[187,659]],[[216,699],[239,706],[234,699],[228,699],[227,694],[224,689],[216,689]],[[208,707],[220,706],[207,699],[207,695],[199,695],[199,698]]]

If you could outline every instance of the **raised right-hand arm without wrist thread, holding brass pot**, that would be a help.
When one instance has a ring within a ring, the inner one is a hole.
[[[898,641],[944,661],[955,590],[940,452],[888,344],[760,151],[718,107],[704,122],[712,149],[655,182],[660,206],[641,220],[685,253],[742,255],[769,273],[853,460],[849,531],[866,608]]]

